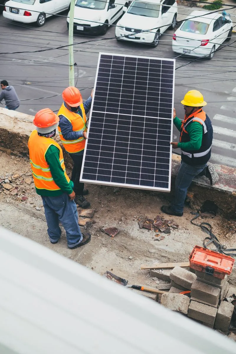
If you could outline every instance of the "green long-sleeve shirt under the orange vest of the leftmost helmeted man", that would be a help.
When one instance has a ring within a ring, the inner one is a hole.
[[[60,156],[59,149],[55,145],[50,145],[45,154],[45,159],[50,167],[50,171],[52,173],[54,182],[58,185],[60,189],[47,190],[47,189],[38,189],[35,187],[37,194],[43,196],[55,197],[63,193],[71,194],[73,192],[72,189],[74,187],[73,182],[72,181],[70,181],[69,183],[67,182],[64,175],[64,171],[61,168],[59,156]]]

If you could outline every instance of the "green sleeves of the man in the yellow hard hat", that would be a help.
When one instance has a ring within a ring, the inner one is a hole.
[[[175,117],[173,120],[178,131],[181,129],[182,120]],[[185,130],[188,132],[190,141],[187,143],[178,143],[178,148],[186,151],[199,150],[202,144],[202,125],[199,122],[191,122]]]

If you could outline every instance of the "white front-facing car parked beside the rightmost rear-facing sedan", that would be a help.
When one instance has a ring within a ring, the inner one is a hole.
[[[117,22],[116,38],[157,46],[160,35],[169,27],[175,28],[176,18],[175,0],[132,1]]]

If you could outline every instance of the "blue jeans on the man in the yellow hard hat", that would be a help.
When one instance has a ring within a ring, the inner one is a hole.
[[[175,179],[175,200],[171,204],[171,209],[176,213],[182,213],[184,201],[188,192],[188,187],[197,175],[204,176],[207,164],[191,166],[181,161],[178,174]]]

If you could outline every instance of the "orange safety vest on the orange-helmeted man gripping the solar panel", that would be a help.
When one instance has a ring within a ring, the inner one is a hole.
[[[72,130],[74,132],[79,132],[79,131],[87,131],[86,127],[86,114],[84,111],[84,106],[83,103],[80,105],[80,108],[82,110],[82,115],[79,115],[78,113],[71,112],[69,109],[67,109],[64,105],[64,103],[61,105],[61,108],[59,109],[59,112],[57,115],[64,115],[66,119],[69,120],[69,122],[72,125]],[[58,132],[61,138],[61,142],[63,143],[63,146],[65,150],[70,153],[78,153],[79,151],[82,151],[85,147],[85,139],[82,136],[81,138],[78,138],[76,140],[66,140],[64,139],[61,129],[60,129],[60,122],[58,126]]]

